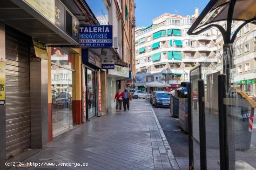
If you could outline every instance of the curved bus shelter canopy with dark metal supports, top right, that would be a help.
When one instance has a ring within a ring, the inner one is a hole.
[[[224,20],[227,21],[226,30],[221,25],[214,24]],[[232,20],[245,21],[245,23],[236,29],[230,39]],[[255,0],[210,0],[187,33],[197,35],[215,26],[221,31],[225,44],[233,43],[237,32],[249,22],[256,24]]]

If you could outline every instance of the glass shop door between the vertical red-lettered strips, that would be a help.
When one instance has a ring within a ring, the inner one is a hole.
[[[88,119],[96,116],[96,97],[95,97],[95,71],[87,69],[87,108]]]

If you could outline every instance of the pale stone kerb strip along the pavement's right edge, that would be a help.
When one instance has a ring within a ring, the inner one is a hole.
[[[153,115],[155,117],[155,122],[156,122],[157,128],[158,128],[158,130],[160,132],[160,135],[161,135],[161,138],[162,138],[165,150],[167,152],[170,164],[171,164],[173,170],[180,170],[180,167],[179,167],[179,165],[178,165],[178,163],[177,163],[177,161],[176,161],[176,159],[175,159],[175,157],[173,155],[173,152],[171,150],[170,145],[168,144],[166,136],[165,136],[164,132],[162,131],[162,127],[161,127],[161,125],[160,125],[160,123],[159,123],[159,121],[158,121],[158,119],[156,117],[156,114],[155,114],[155,111],[154,111],[152,105],[150,105],[150,108],[151,108],[151,111],[153,112]]]

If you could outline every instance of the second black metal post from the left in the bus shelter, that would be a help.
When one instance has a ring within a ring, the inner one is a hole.
[[[198,104],[199,104],[199,133],[200,133],[200,168],[201,170],[207,170],[205,109],[204,109],[204,81],[203,80],[198,80]]]

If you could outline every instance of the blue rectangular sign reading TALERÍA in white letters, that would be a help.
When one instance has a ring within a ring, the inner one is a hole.
[[[81,47],[111,48],[113,45],[112,25],[81,25],[79,44]]]

